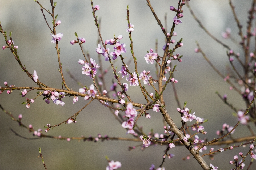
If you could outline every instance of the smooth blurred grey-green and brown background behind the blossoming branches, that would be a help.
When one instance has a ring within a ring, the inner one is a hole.
[[[49,1],[39,1],[46,9],[51,9]],[[250,8],[251,1],[234,1],[236,6],[237,16],[243,27],[245,33],[245,24],[247,21],[247,12]],[[126,44],[127,53],[123,57],[127,57],[126,61],[131,58],[129,48],[129,35],[126,32],[126,5],[129,5],[130,22],[134,25],[132,32],[134,53],[138,61],[139,71],[150,71],[150,75],[156,78],[154,65],[147,64],[144,56],[150,48],[155,49],[155,41],[158,40],[158,54],[163,55],[162,46],[165,45],[165,37],[153,17],[150,8],[146,5],[146,1],[122,0],[122,1],[93,1],[94,5],[99,5],[100,10],[96,12],[98,18],[101,18],[101,35],[103,41],[122,35],[121,43]],[[177,8],[177,1],[151,1],[155,13],[164,24],[164,16],[167,14],[167,30],[173,22],[175,12],[170,11],[170,6]],[[224,40],[221,36],[226,27],[231,28],[231,35],[239,42],[237,36],[238,29],[234,22],[234,18],[227,0],[193,0],[190,5],[197,17],[205,25],[205,27],[218,39],[227,43],[235,52],[240,52],[241,57],[243,53],[241,48],[232,43],[231,40]],[[67,74],[67,69],[84,85],[89,87],[92,84],[88,76],[82,74],[81,65],[78,64],[79,59],[83,59],[79,45],[71,45],[70,41],[75,40],[74,32],[77,32],[79,37],[84,37],[86,43],[83,44],[83,50],[90,54],[96,63],[98,63],[98,54],[95,52],[97,48],[98,33],[94,24],[94,18],[91,13],[91,3],[86,1],[57,1],[55,8],[55,15],[58,14],[57,20],[61,20],[61,25],[57,29],[58,32],[63,33],[63,37],[59,42],[61,48],[61,62],[63,64],[63,74],[67,85],[75,91],[78,91],[78,86]],[[226,56],[226,49],[212,40],[206,33],[198,27],[191,16],[187,6],[183,7],[183,15],[181,18],[182,24],[175,27],[177,36],[174,40],[177,42],[183,38],[184,46],[178,48],[176,51],[183,55],[182,62],[174,61],[177,64],[175,79],[178,80],[176,84],[177,93],[181,103],[187,101],[187,107],[192,108],[196,116],[208,119],[204,124],[206,135],[199,134],[199,137],[209,140],[217,138],[216,131],[222,129],[222,124],[227,123],[234,126],[237,123],[237,118],[232,116],[232,110],[227,107],[215,94],[218,91],[221,95],[227,94],[227,100],[236,108],[245,109],[241,96],[234,90],[229,90],[229,85],[223,81],[221,77],[214,72],[214,70],[207,64],[201,54],[195,53],[195,41],[201,45],[202,50],[206,53],[211,62],[226,75],[226,66],[229,65]],[[44,12],[49,24],[51,24],[50,15]],[[1,3],[0,6],[0,21],[3,29],[9,34],[12,31],[12,38],[14,45],[18,46],[18,55],[21,62],[26,65],[27,70],[33,74],[37,71],[39,80],[53,88],[61,88],[61,77],[58,72],[58,59],[56,55],[55,44],[51,43],[52,37],[50,30],[47,27],[43,15],[40,11],[40,6],[32,0],[14,1],[9,0]],[[255,26],[253,26],[254,28]],[[0,46],[5,45],[4,37],[0,36]],[[110,50],[112,46],[109,45]],[[252,49],[253,50],[253,49]],[[103,57],[103,56],[102,56]],[[234,61],[236,64],[236,61]],[[121,60],[115,63],[118,66],[118,71],[121,69]],[[109,68],[109,63],[103,61],[101,65],[103,69]],[[133,70],[134,64],[129,65],[130,70]],[[98,73],[97,73],[98,74]],[[106,82],[110,94],[109,87],[112,84],[112,71],[106,76]],[[9,49],[0,50],[0,86],[4,86],[3,82],[7,81],[9,85],[14,84],[18,86],[35,86],[35,83],[27,77],[21,70],[18,62],[14,59]],[[123,79],[123,83],[126,81]],[[146,87],[149,92],[153,89]],[[119,91],[119,89],[118,89]],[[34,98],[36,91],[29,92],[26,97]],[[16,118],[19,114],[23,115],[22,122],[25,125],[32,124],[34,129],[43,128],[48,123],[56,125],[68,117],[79,111],[88,101],[79,98],[79,101],[73,104],[71,98],[65,97],[63,101],[65,105],[55,105],[51,101],[48,105],[39,97],[27,109],[26,105],[21,103],[25,101],[25,97],[19,94],[21,91],[15,90],[11,94],[6,91],[0,95],[0,104],[8,111],[10,111]],[[145,103],[143,95],[140,93],[139,87],[129,87],[128,94],[135,102]],[[154,92],[153,92],[154,93]],[[177,126],[181,125],[180,114],[177,112],[177,103],[175,102],[171,84],[165,91],[165,102],[170,116],[173,118]],[[142,117],[138,120],[138,125],[143,126],[143,130],[148,133],[151,129],[155,133],[162,134],[164,132],[162,116],[160,112],[150,111],[151,119]],[[0,169],[44,169],[41,158],[39,156],[38,147],[41,147],[45,164],[48,169],[105,169],[107,155],[110,160],[120,161],[122,167],[120,169],[149,169],[151,164],[156,167],[162,162],[163,151],[165,146],[151,146],[141,151],[140,147],[135,150],[128,151],[129,146],[136,146],[139,142],[127,141],[104,141],[104,142],[83,142],[83,141],[66,141],[55,139],[37,139],[26,140],[15,136],[10,128],[15,130],[20,135],[25,137],[33,137],[31,133],[24,128],[20,128],[17,122],[10,119],[8,115],[1,111],[0,114]],[[190,124],[190,123],[189,123]],[[253,129],[255,131],[255,128]],[[45,132],[43,132],[45,133]],[[77,116],[77,123],[63,124],[53,130],[49,130],[47,135],[63,136],[63,137],[80,137],[80,136],[97,136],[108,135],[109,137],[129,137],[126,135],[126,130],[121,127],[119,122],[114,119],[112,114],[98,101],[93,101]],[[233,134],[234,137],[244,137],[249,134],[245,126],[239,125]],[[207,146],[207,150],[203,153],[208,153],[210,148],[214,150],[225,148],[228,146]],[[205,161],[219,169],[232,169],[233,166],[229,164],[233,160],[234,155],[239,152],[247,152],[248,147],[238,148],[235,150],[228,150],[214,156],[211,160],[207,156]],[[183,161],[182,158],[189,155],[188,150],[184,147],[175,147],[169,151],[175,154],[174,158],[166,159],[164,167],[166,169],[200,169],[199,164],[193,159]],[[250,159],[246,159],[246,167]],[[255,164],[251,169],[254,169]]]

